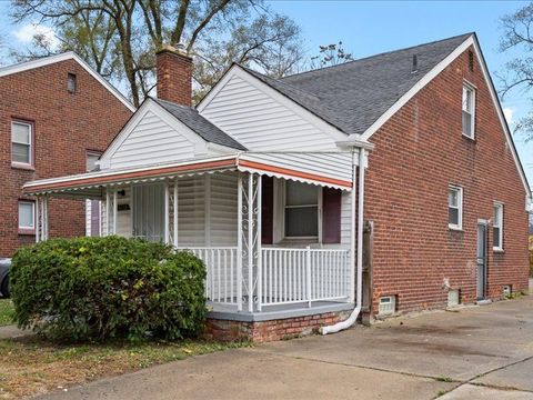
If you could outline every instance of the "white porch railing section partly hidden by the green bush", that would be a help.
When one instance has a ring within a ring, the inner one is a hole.
[[[207,268],[205,298],[211,301],[237,304],[238,293],[238,262],[237,247],[224,248],[187,248]]]

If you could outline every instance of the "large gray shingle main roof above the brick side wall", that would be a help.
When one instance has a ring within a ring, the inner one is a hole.
[[[363,133],[473,33],[385,52],[279,80],[247,69],[339,130]],[[413,56],[418,72],[412,73]]]

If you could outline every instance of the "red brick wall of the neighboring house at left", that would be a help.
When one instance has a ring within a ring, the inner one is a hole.
[[[77,92],[67,74],[77,74]],[[0,257],[34,242],[18,232],[21,187],[33,179],[86,171],[88,150],[103,151],[131,111],[73,60],[0,78]],[[34,170],[11,167],[11,121],[34,124]],[[50,236],[84,234],[82,201],[51,199]]]

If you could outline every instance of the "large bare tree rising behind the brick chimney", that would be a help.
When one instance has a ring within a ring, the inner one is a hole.
[[[12,0],[12,10],[16,22],[52,27],[61,42],[56,51],[74,50],[103,76],[125,81],[135,106],[153,88],[154,53],[167,43],[199,56],[199,92],[231,62],[284,74],[302,57],[298,26],[262,0]],[[52,51],[37,39],[19,56]]]

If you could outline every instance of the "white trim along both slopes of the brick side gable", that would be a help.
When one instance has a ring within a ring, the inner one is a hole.
[[[359,140],[368,141],[372,134],[374,134],[392,116],[396,113],[403,106],[408,103],[421,89],[423,89],[428,83],[430,83],[433,78],[435,78],[439,73],[441,73],[447,66],[450,66],[459,56],[461,56],[467,48],[474,48],[475,56],[480,60],[481,70],[483,72],[483,78],[485,79],[486,86],[491,93],[492,101],[496,109],[497,117],[500,119],[500,123],[505,132],[505,138],[507,140],[507,144],[511,149],[513,154],[514,163],[516,164],[516,169],[519,170],[519,174],[522,180],[522,184],[526,191],[527,198],[531,198],[531,189],[527,183],[527,178],[525,177],[524,169],[522,168],[522,163],[520,161],[519,154],[516,152],[516,148],[514,147],[514,142],[509,130],[507,122],[503,114],[502,106],[500,104],[500,100],[497,99],[496,91],[494,89],[494,84],[492,82],[491,76],[489,73],[489,69],[486,67],[486,61],[481,52],[480,44],[477,42],[477,38],[475,33],[471,34],[466,38],[455,50],[453,50],[444,60],[439,62],[431,71],[429,71],[420,81],[418,81],[405,94],[403,94],[392,107],[386,110],[381,117],[372,123],[363,134],[361,134]]]

